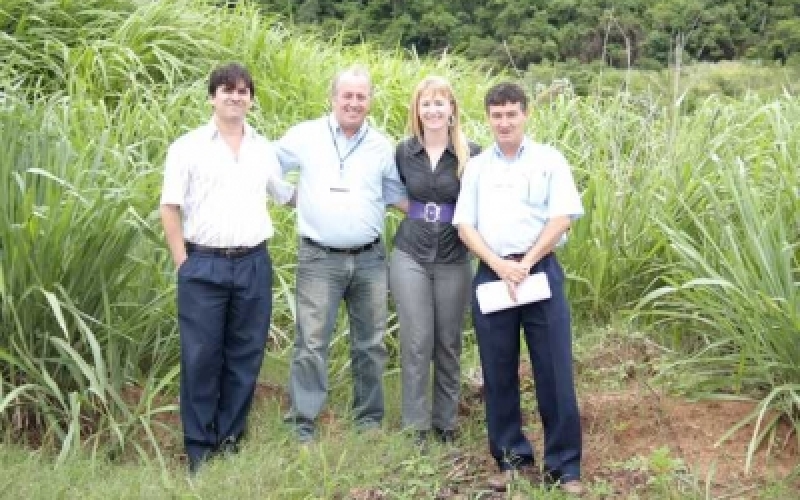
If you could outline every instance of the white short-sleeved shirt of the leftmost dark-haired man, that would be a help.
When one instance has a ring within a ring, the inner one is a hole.
[[[274,234],[267,194],[278,203],[294,188],[283,181],[272,144],[245,124],[236,157],[213,119],[167,152],[162,205],[179,205],[186,241],[212,247],[255,246]]]

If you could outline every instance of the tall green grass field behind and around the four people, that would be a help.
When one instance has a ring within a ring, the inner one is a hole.
[[[88,452],[166,463],[159,436],[175,430],[163,417],[175,410],[178,342],[157,217],[161,168],[167,145],[208,119],[208,72],[232,59],[255,75],[251,118],[269,137],[325,112],[329,78],[359,61],[377,84],[374,124],[392,137],[404,133],[413,82],[436,73],[454,82],[469,136],[490,142],[481,98],[500,77],[457,57],[350,46],[340,31],[298,34],[253,4],[6,0],[4,440],[61,461]],[[739,70],[729,71],[735,80]],[[771,84],[787,79],[771,75]],[[530,74],[517,76],[536,90]],[[658,374],[675,390],[760,401],[754,443],[778,418],[800,430],[800,100],[791,86],[732,99],[691,74],[663,78],[641,90],[622,78],[616,92],[604,80],[603,92],[546,95],[532,116],[530,132],[565,152],[583,191],[587,215],[560,254],[576,316],[643,332],[667,356]],[[268,364],[285,358],[293,334],[296,249],[293,213],[272,214]],[[396,222],[388,220],[389,236]],[[393,350],[395,329],[392,320]],[[348,382],[346,335],[342,324],[335,388]]]

